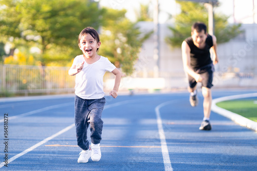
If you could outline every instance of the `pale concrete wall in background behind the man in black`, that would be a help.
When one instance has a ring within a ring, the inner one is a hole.
[[[168,26],[160,25],[160,56],[159,77],[166,79],[166,88],[180,88],[187,86],[187,79],[183,71],[181,48],[171,48],[165,42],[165,37],[171,35]],[[154,29],[151,22],[140,22],[142,32]],[[218,44],[217,52],[219,63],[215,66],[215,87],[256,87],[257,75],[257,25],[243,24],[245,33],[230,42]],[[190,33],[189,33],[190,36]],[[136,72],[133,77],[153,77],[154,37],[143,44]]]

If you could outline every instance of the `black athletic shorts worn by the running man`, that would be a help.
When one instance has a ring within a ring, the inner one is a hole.
[[[214,65],[213,64],[210,64],[210,65],[207,65],[205,67],[198,68],[198,69],[194,69],[194,71],[196,73],[199,73],[202,77],[205,78],[201,82],[202,87],[211,88],[213,86],[212,85],[213,72],[214,72]],[[196,84],[197,84],[195,79],[193,77],[191,77],[191,75],[189,75],[189,74],[188,74],[188,81],[189,81],[189,86],[191,88],[195,87]]]

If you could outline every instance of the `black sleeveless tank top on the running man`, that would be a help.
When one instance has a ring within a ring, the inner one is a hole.
[[[204,49],[199,49],[196,47],[192,37],[188,37],[185,41],[190,47],[190,65],[193,69],[202,68],[212,63],[210,48],[213,46],[213,41],[211,35],[207,35]]]

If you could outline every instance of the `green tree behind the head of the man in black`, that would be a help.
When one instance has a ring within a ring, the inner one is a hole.
[[[172,47],[180,47],[183,40],[191,36],[193,23],[208,23],[208,11],[203,3],[176,2],[181,6],[181,13],[175,16],[175,26],[169,27],[173,36],[166,37],[166,42]],[[217,43],[228,42],[242,32],[241,24],[229,25],[227,20],[228,16],[224,14],[214,15],[214,32]]]

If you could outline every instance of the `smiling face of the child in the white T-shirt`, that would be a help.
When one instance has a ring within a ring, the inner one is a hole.
[[[86,58],[94,58],[100,45],[101,42],[97,42],[90,34],[84,34],[79,43],[80,50]]]

